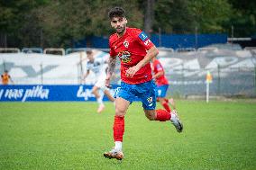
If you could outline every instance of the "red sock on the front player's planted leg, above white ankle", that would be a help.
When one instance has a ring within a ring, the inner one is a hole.
[[[124,133],[124,117],[114,116],[114,142],[120,141],[123,142],[123,133]]]

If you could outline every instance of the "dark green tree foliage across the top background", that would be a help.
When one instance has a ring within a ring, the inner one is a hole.
[[[129,26],[143,29],[143,0],[2,0],[0,42],[5,35],[9,47],[72,47],[85,37],[109,36],[107,13],[114,6],[126,10]],[[255,8],[253,0],[154,0],[151,30],[230,35],[233,25],[235,36],[250,36],[256,32]]]

